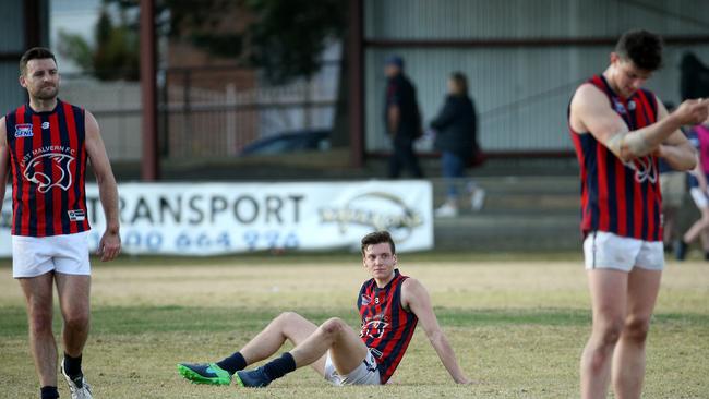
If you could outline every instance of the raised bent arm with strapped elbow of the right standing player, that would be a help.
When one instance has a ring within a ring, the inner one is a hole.
[[[590,134],[616,157],[629,161],[658,150],[680,126],[697,124],[709,113],[709,100],[686,100],[675,112],[648,126],[628,131],[623,119],[609,107],[608,97],[596,86],[581,85],[572,99],[572,128]]]

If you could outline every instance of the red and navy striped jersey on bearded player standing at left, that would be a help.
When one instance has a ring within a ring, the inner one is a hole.
[[[89,229],[84,176],[84,110],[57,100],[5,116],[12,170],[12,234],[48,237]]]

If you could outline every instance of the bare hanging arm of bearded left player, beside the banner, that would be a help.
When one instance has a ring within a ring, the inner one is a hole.
[[[86,154],[92,162],[98,183],[98,195],[106,215],[106,231],[98,243],[101,261],[111,261],[121,252],[121,237],[118,220],[118,186],[106,154],[96,118],[86,111]]]

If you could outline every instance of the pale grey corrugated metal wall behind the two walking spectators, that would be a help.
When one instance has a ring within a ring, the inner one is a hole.
[[[616,37],[644,27],[662,35],[709,34],[709,2],[582,0],[366,0],[365,40],[569,39]],[[396,43],[396,41],[394,41]],[[612,46],[368,46],[365,142],[385,150],[383,62],[390,53],[406,60],[428,123],[440,110],[447,75],[461,71],[480,116],[480,141],[488,150],[568,150],[566,107],[575,87],[608,65]],[[709,44],[668,45],[665,66],[648,87],[663,100],[678,101],[678,63],[694,51],[709,63]],[[419,143],[431,149],[431,141]]]

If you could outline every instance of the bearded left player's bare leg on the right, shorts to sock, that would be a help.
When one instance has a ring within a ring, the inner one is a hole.
[[[89,276],[56,274],[59,306],[64,318],[62,342],[64,352],[77,358],[84,350],[89,329]]]

